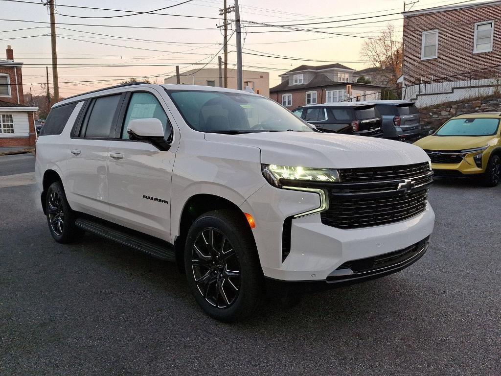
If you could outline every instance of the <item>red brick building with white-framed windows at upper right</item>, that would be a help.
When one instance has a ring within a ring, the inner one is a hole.
[[[403,99],[426,106],[493,93],[501,78],[501,1],[403,16]]]

